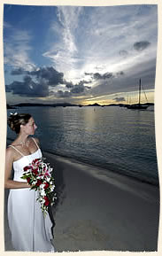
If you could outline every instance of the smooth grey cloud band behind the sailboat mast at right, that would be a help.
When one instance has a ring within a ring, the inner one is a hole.
[[[156,73],[156,58],[148,59],[146,62],[136,64],[127,70],[127,73],[120,76],[115,76],[113,79],[105,81],[101,80],[95,87],[90,89],[90,94],[93,96],[102,96],[106,94],[131,92],[138,90],[139,79],[142,79],[142,87],[147,89],[154,89],[155,87],[155,73]]]

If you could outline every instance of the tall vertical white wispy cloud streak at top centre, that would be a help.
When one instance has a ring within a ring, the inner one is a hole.
[[[81,7],[58,7],[58,23],[54,21],[50,26],[51,32],[58,36],[58,43],[51,43],[50,50],[44,52],[43,56],[50,58],[54,66],[65,73],[73,69],[78,61],[75,33],[81,12]]]

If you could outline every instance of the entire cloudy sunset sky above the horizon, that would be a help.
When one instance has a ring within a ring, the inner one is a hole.
[[[7,103],[135,103],[140,78],[153,102],[157,30],[157,5],[4,4]]]

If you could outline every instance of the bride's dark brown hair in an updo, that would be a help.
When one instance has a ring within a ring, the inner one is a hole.
[[[31,117],[32,116],[29,113],[11,113],[7,119],[7,123],[12,131],[19,134],[20,125],[26,125]]]

